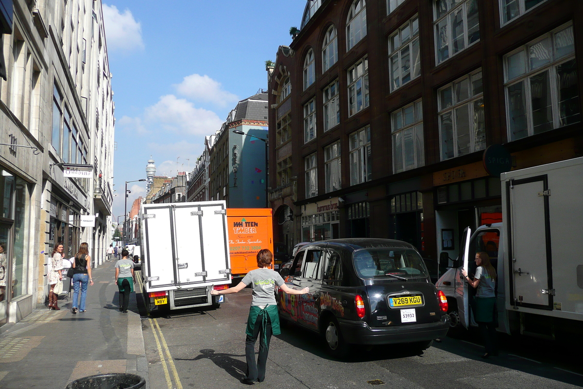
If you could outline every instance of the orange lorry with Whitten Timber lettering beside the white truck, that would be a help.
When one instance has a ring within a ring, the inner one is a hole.
[[[227,208],[227,230],[233,278],[257,269],[259,250],[273,253],[271,208]]]

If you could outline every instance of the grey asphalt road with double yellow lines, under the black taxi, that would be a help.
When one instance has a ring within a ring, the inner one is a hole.
[[[141,299],[138,296],[138,302]],[[143,316],[150,388],[234,388],[245,373],[245,325],[251,289],[227,296],[220,309]],[[417,355],[406,345],[355,348],[326,355],[317,334],[296,325],[272,338],[263,388],[571,388],[583,386],[581,348],[501,336],[501,353],[481,359],[477,331]]]

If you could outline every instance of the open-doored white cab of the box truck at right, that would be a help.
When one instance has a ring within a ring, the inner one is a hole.
[[[465,229],[459,257],[452,267],[438,279],[436,286],[448,300],[448,314],[451,327],[468,328],[477,325],[470,314],[470,303],[476,295],[476,289],[470,288],[463,278],[462,269],[473,276],[476,272],[474,261],[476,253],[486,252],[490,257],[492,266],[496,269],[496,309],[498,312],[498,331],[508,332],[508,318],[505,315],[505,268],[504,268],[504,239],[503,223],[480,226],[472,233],[468,227]],[[510,333],[510,332],[508,332]]]

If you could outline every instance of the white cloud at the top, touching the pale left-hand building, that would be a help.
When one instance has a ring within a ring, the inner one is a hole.
[[[120,13],[115,5],[103,4],[103,23],[109,51],[128,52],[144,48],[142,24],[136,22],[128,8]]]

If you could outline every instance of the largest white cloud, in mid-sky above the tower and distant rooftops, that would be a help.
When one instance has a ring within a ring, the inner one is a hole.
[[[162,96],[156,104],[147,107],[145,116],[147,120],[160,122],[168,131],[185,135],[214,134],[222,125],[213,111],[195,108],[190,101],[177,99],[173,94]]]

